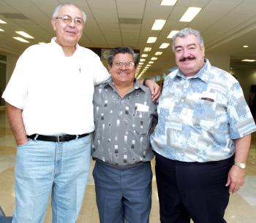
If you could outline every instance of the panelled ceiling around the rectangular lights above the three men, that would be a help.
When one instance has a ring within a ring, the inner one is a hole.
[[[175,6],[161,6],[161,0],[77,0],[75,3],[86,12],[86,27],[80,45],[84,47],[112,48],[129,46],[143,53],[152,47],[144,66],[157,51],[162,55],[146,71],[147,77],[162,74],[175,66],[171,47],[159,49],[170,42],[171,30],[184,27],[201,32],[207,52],[230,55],[230,66],[256,68],[254,63],[241,63],[241,59],[256,58],[256,1],[255,0],[178,0]],[[50,25],[53,9],[63,1],[57,0],[0,0],[0,52],[20,55],[30,44],[49,42],[54,36]],[[187,7],[202,7],[190,23],[179,22]],[[155,19],[166,20],[161,31],[151,31]],[[30,43],[12,39],[15,31],[26,31],[34,39]],[[148,36],[157,42],[147,44]],[[244,44],[248,48],[242,47]],[[170,44],[171,45],[171,44]]]

